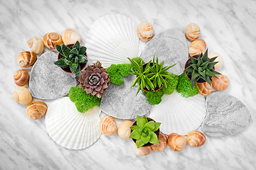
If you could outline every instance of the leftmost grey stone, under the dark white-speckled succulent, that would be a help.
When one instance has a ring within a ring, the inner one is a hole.
[[[45,52],[33,65],[29,87],[33,97],[41,99],[60,98],[68,94],[70,87],[78,82],[75,74],[64,72],[53,62],[58,60],[55,52]]]

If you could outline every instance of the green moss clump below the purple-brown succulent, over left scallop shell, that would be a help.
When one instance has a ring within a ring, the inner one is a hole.
[[[80,113],[85,113],[90,108],[100,106],[100,98],[87,94],[78,86],[71,87],[70,91],[68,92],[68,96],[70,101],[75,102],[75,107]]]

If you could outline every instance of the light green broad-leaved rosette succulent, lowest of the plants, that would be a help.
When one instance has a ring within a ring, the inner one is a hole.
[[[143,118],[137,115],[137,125],[131,127],[132,133],[130,138],[136,140],[137,147],[142,147],[146,143],[159,144],[156,130],[159,129],[161,123],[156,123],[154,120],[149,121],[146,116]]]

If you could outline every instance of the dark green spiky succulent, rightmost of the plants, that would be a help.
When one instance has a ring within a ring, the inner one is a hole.
[[[216,72],[214,69],[214,65],[218,63],[214,62],[216,58],[217,57],[208,59],[208,50],[206,50],[204,54],[201,53],[198,55],[198,58],[190,57],[190,60],[188,60],[189,66],[184,70],[184,72],[186,72],[187,76],[191,79],[191,89],[200,79],[203,79],[210,84],[212,77],[217,78],[215,74],[220,73]]]

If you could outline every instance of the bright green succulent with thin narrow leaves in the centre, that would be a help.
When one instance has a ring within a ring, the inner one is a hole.
[[[176,64],[173,64],[169,67],[164,67],[164,61],[159,64],[158,57],[156,57],[155,61],[155,56],[153,57],[153,60],[150,60],[146,64],[143,62],[137,63],[131,59],[129,59],[129,61],[132,63],[134,70],[136,70],[135,72],[131,72],[131,74],[137,76],[137,78],[132,83],[131,88],[138,83],[139,88],[137,94],[140,90],[148,92],[158,91],[163,86],[167,86],[166,78],[173,79],[167,70],[171,67],[174,67]]]

